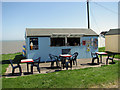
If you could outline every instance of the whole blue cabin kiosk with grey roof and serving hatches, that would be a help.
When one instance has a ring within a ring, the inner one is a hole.
[[[26,57],[41,57],[49,61],[49,54],[73,54],[78,59],[91,58],[91,52],[98,51],[98,35],[92,29],[80,28],[26,28]]]

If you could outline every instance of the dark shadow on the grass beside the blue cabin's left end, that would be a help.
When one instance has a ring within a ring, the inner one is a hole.
[[[15,58],[12,60],[13,64],[20,63],[21,59],[25,59],[25,57],[23,57],[22,54],[16,55]],[[10,64],[10,61],[9,60],[2,60],[2,61],[0,61],[0,64],[1,63],[2,64]]]

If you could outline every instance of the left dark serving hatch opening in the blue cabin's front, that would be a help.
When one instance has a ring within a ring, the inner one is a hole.
[[[65,38],[51,38],[51,46],[65,46]]]

